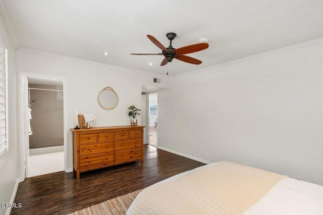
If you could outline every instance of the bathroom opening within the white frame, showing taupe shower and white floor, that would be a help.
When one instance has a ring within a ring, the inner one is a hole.
[[[26,177],[63,171],[63,83],[28,79],[28,94],[30,126]]]

